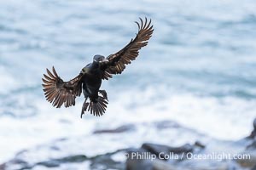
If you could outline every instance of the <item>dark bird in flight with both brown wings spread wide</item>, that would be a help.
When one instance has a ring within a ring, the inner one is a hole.
[[[125,65],[131,64],[131,60],[137,58],[139,49],[148,44],[148,39],[154,31],[151,20],[145,18],[144,22],[140,18],[137,35],[131,39],[125,48],[115,54],[110,54],[107,58],[102,55],[95,55],[92,63],[86,65],[79,76],[68,82],[64,82],[58,76],[55,68],[52,72],[46,69],[48,75],[44,74],[43,87],[45,98],[57,108],[61,105],[69,107],[75,105],[75,98],[84,93],[84,104],[81,111],[81,117],[84,111],[90,111],[94,116],[102,116],[108,105],[108,95],[105,90],[100,90],[102,80],[108,80],[113,75],[121,74],[125,70]],[[87,102],[87,99],[90,102]]]

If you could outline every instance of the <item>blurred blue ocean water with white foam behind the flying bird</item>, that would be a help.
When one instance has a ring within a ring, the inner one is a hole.
[[[129,123],[172,120],[214,139],[245,137],[256,117],[255,8],[253,0],[0,0],[0,161]],[[122,75],[102,83],[109,98],[104,116],[80,119],[83,97],[68,109],[44,99],[45,68],[55,65],[64,80],[77,76],[95,54],[123,48],[136,35],[134,21],[145,16],[153,37]],[[158,132],[143,140],[145,133],[138,143]],[[179,137],[162,136],[186,138]]]

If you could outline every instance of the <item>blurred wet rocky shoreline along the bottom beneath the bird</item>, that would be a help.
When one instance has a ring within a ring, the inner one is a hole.
[[[177,128],[181,133],[188,131],[195,134],[192,129],[180,127],[174,122],[154,122],[154,128]],[[205,138],[204,142],[196,140],[180,146],[143,143],[140,147],[119,148],[95,156],[81,154],[86,151],[54,156],[55,152],[65,152],[65,147],[60,146],[68,139],[59,139],[53,144],[20,151],[12,160],[0,165],[0,169],[256,170],[256,119],[253,128],[248,137],[238,141],[221,141],[201,134]],[[137,126],[129,124],[114,129],[96,130],[92,135],[122,137],[125,133],[136,133],[138,130]],[[42,153],[49,156],[42,157]]]

